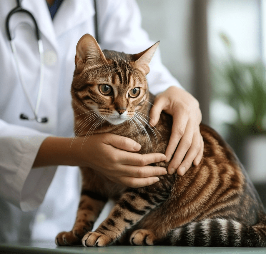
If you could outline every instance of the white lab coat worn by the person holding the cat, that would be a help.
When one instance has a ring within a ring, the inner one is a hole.
[[[153,44],[140,27],[136,3],[98,0],[99,38],[102,49],[138,53]],[[94,34],[92,0],[64,0],[51,20],[45,0],[23,0],[22,7],[35,17],[44,44],[44,87],[38,115],[48,123],[25,121],[33,117],[22,89],[5,19],[16,1],[0,0],[0,241],[54,239],[71,230],[79,202],[77,167],[45,167],[31,170],[39,146],[47,136],[73,136],[70,86],[76,44],[85,33]],[[32,103],[39,88],[38,44],[28,16],[10,20],[19,56],[20,71]],[[158,38],[159,39],[159,38]],[[164,91],[179,83],[154,56],[148,74],[150,90]],[[22,212],[22,211],[23,212]]]

